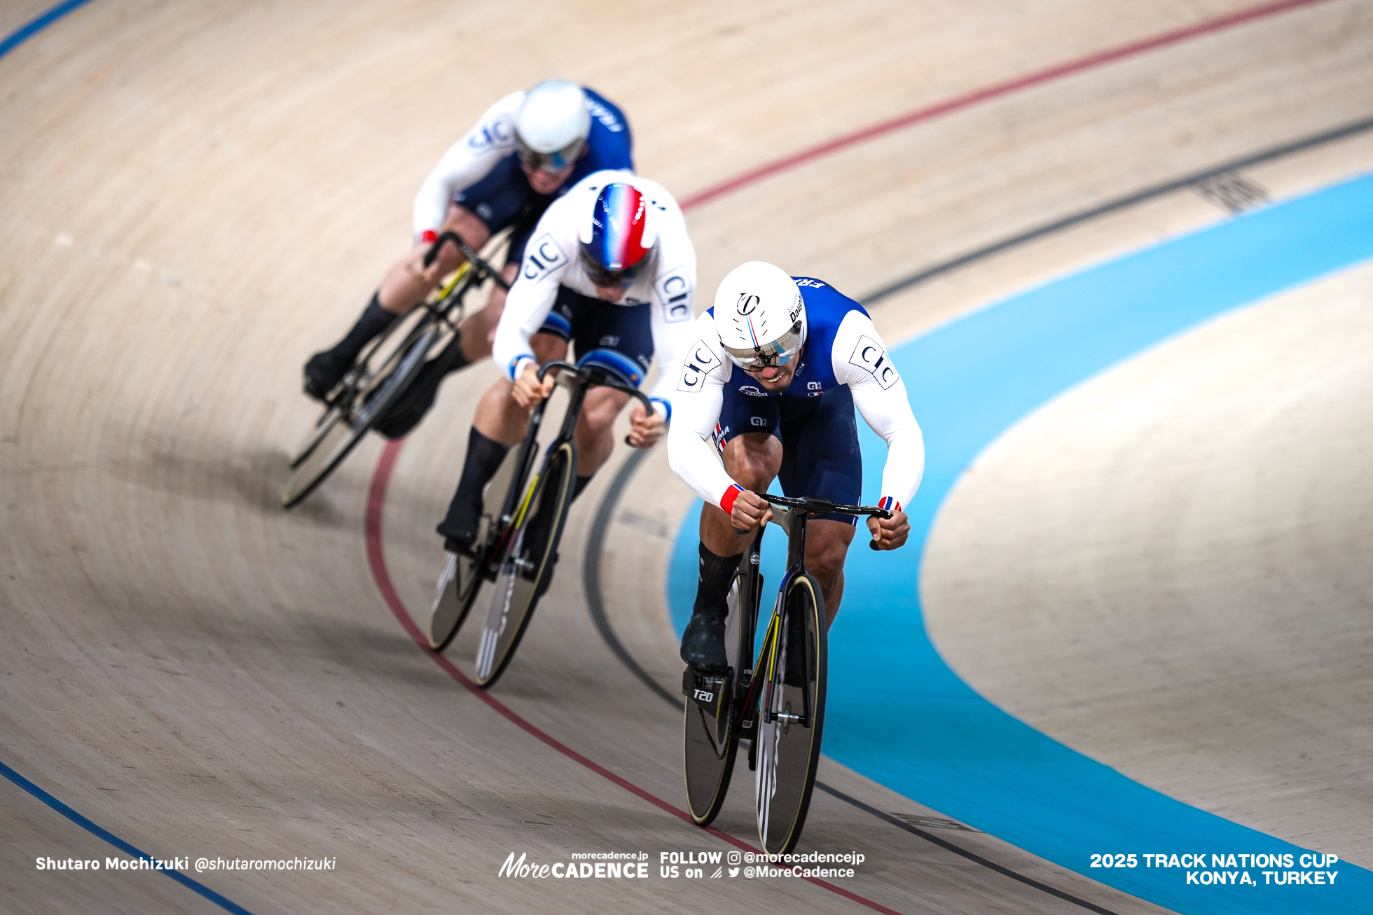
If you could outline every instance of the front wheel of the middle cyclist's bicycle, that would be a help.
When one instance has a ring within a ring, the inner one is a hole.
[[[524,635],[541,583],[553,573],[553,557],[563,535],[567,508],[573,499],[577,449],[562,442],[544,461],[507,528],[497,557],[492,609],[486,616],[482,643],[476,650],[476,685],[490,689],[515,656]]]

